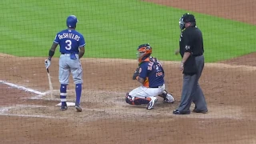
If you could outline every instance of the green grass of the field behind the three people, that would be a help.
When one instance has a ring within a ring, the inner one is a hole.
[[[180,60],[174,50],[178,19],[185,10],[138,0],[10,0],[0,2],[0,9],[1,53],[46,57],[55,34],[66,29],[66,17],[75,14],[77,30],[86,38],[87,58],[135,58],[137,46],[149,42],[155,57]],[[203,33],[206,62],[254,51],[255,26],[194,15]]]

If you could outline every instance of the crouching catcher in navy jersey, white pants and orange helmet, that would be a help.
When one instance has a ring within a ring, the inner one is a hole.
[[[146,109],[151,110],[158,101],[156,96],[164,99],[164,102],[174,102],[171,94],[165,90],[164,70],[157,58],[150,57],[152,47],[150,44],[138,46],[138,68],[134,72],[133,79],[142,83],[142,86],[131,90],[126,94],[126,102],[130,105],[147,104]]]

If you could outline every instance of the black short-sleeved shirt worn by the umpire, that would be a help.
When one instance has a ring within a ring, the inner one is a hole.
[[[184,63],[183,74],[195,74],[195,57],[203,54],[202,32],[197,26],[187,27],[182,31],[179,40],[179,53],[182,58],[185,52],[190,52],[190,57]]]

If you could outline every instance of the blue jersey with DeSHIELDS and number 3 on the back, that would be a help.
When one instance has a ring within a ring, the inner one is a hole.
[[[54,42],[59,44],[59,51],[62,54],[78,54],[79,47],[86,45],[85,38],[83,38],[82,34],[76,30],[68,29],[59,32]]]

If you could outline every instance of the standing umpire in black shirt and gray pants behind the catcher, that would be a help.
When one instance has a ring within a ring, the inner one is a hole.
[[[190,114],[192,102],[195,104],[193,112],[206,114],[206,99],[198,83],[204,67],[202,32],[196,26],[193,14],[183,14],[179,26],[182,30],[179,54],[182,56],[183,86],[181,102],[173,114]]]

